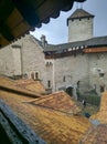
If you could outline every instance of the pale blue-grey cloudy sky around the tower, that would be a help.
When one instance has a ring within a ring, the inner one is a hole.
[[[86,0],[83,4],[75,2],[69,11],[61,12],[58,18],[51,19],[47,24],[42,24],[42,28],[35,28],[35,31],[31,32],[31,34],[39,40],[44,34],[50,44],[68,42],[66,20],[77,8],[83,8],[95,16],[94,37],[107,35],[107,0]]]

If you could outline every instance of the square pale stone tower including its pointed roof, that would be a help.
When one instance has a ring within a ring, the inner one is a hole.
[[[83,41],[93,38],[94,16],[83,9],[76,9],[67,18],[68,42]]]

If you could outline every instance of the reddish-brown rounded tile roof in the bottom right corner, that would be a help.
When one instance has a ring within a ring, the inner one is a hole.
[[[107,125],[100,124],[85,134],[81,144],[107,144]]]

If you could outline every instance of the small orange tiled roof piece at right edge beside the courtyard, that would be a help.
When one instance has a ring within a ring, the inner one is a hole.
[[[99,112],[96,115],[93,115],[90,119],[96,119],[101,123],[107,123],[107,91],[101,94]]]

